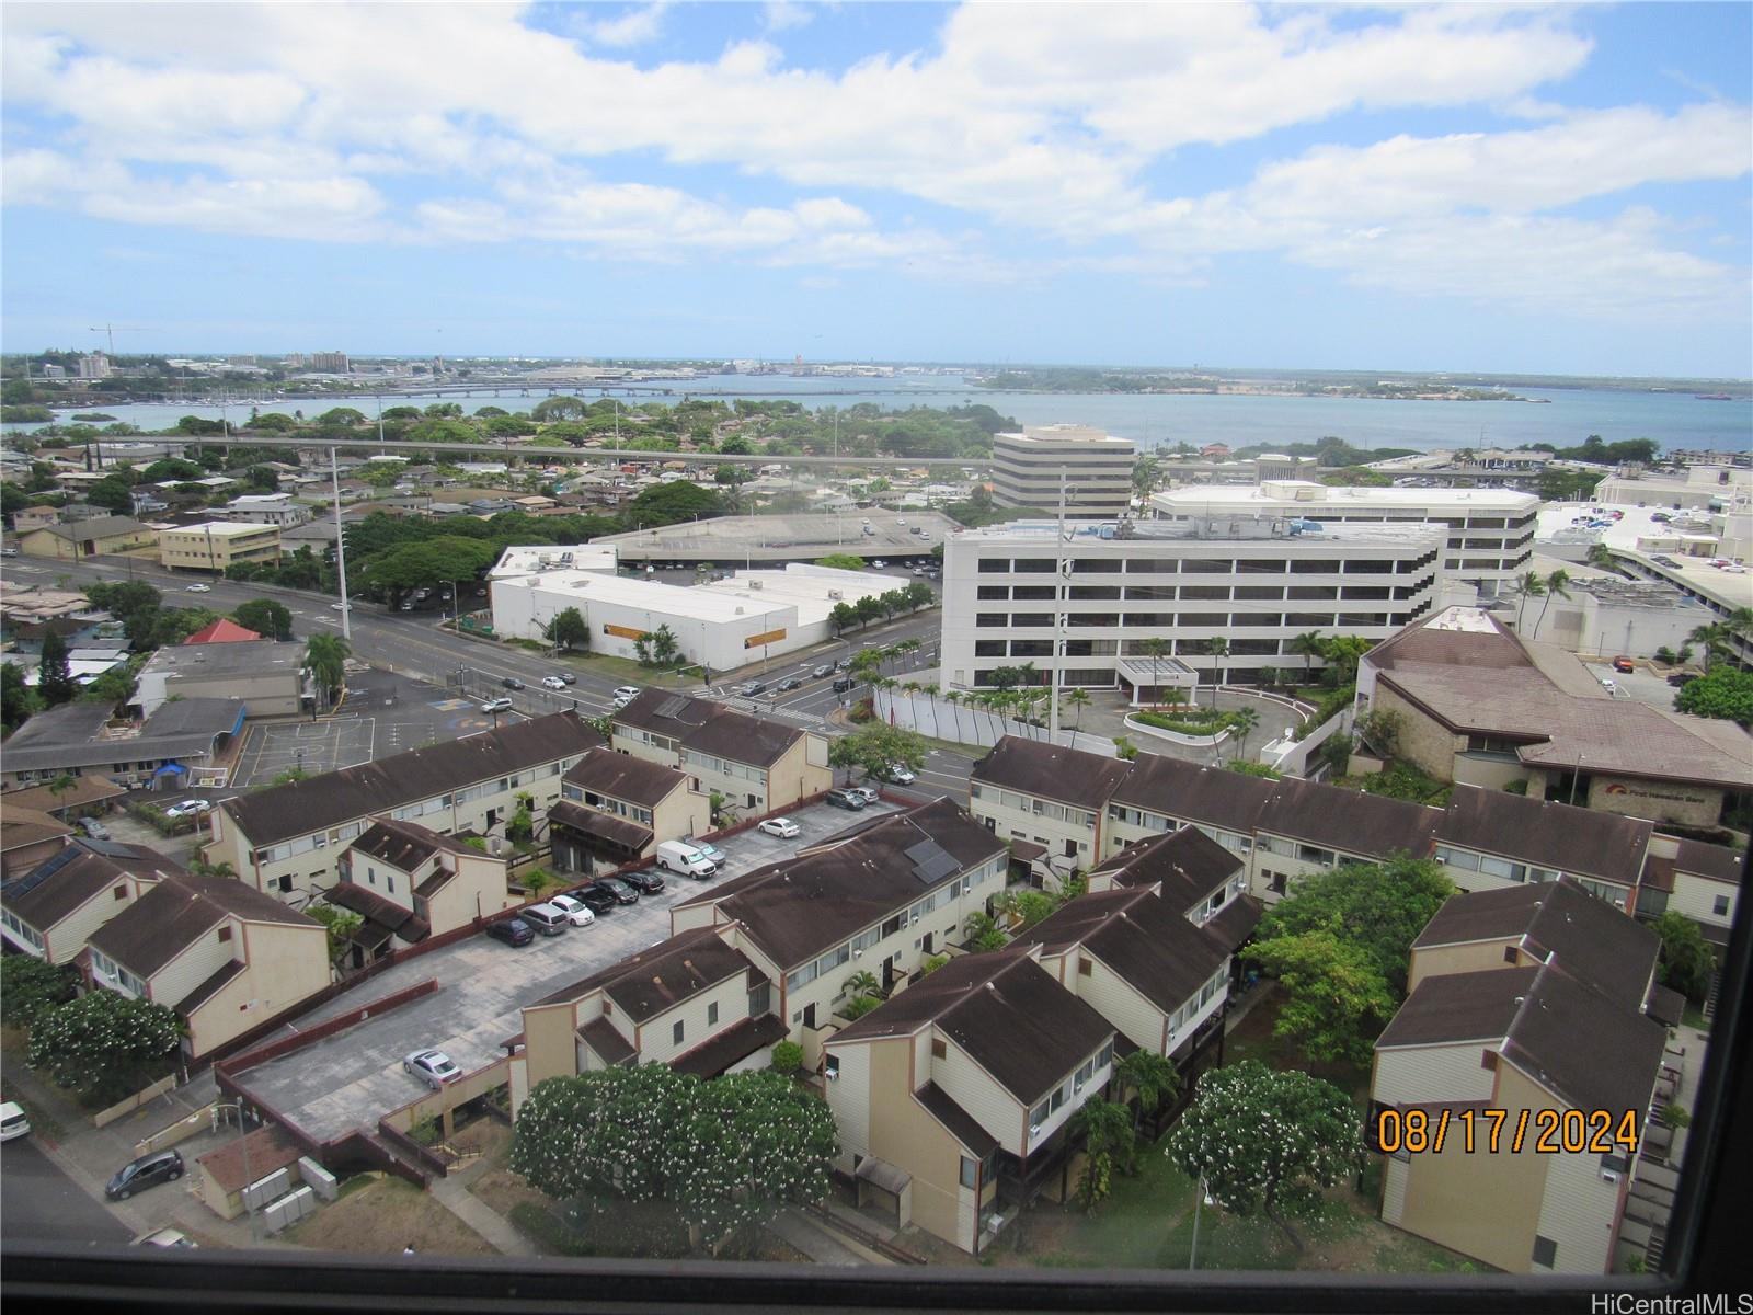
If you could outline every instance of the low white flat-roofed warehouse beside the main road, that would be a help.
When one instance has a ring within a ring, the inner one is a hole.
[[[668,626],[687,663],[735,672],[833,638],[827,615],[901,582],[889,575],[791,563],[736,572],[713,584],[661,584],[594,570],[545,570],[493,579],[493,629],[540,640],[568,607],[591,626],[593,652],[638,658],[635,643]]]

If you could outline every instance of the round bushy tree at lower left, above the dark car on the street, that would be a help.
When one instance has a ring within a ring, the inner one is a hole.
[[[109,1103],[156,1078],[181,1036],[174,1010],[100,987],[37,1017],[30,1066]]]

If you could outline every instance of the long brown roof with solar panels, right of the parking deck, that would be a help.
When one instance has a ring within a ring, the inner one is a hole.
[[[908,850],[927,840],[955,864],[929,882],[915,875],[915,861],[908,857]],[[934,800],[878,817],[850,836],[757,868],[684,903],[717,903],[773,963],[796,968],[1003,852],[1004,842],[955,803]]]

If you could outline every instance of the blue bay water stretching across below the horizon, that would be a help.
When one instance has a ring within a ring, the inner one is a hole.
[[[563,389],[578,396],[621,396],[629,403],[696,398],[791,400],[805,407],[885,409],[957,407],[983,403],[1022,424],[1094,424],[1141,447],[1224,442],[1231,447],[1313,444],[1334,435],[1364,449],[1411,447],[1571,447],[1599,433],[1606,442],[1655,438],[1664,449],[1753,449],[1753,403],[1704,402],[1692,393],[1629,389],[1515,389],[1543,402],[1390,402],[1383,398],[1322,398],[1274,394],[1138,394],[1138,393],[1004,393],[973,387],[957,375],[899,379],[789,379],[784,375],[705,375],[687,384],[657,382],[617,389]],[[386,394],[382,405],[426,407],[456,402],[465,412],[496,405],[505,410],[535,407],[549,387],[477,387],[472,394]],[[242,398],[226,405],[135,403],[96,407],[142,430],[168,430],[182,416],[244,419],[251,407],[302,410],[316,416],[330,407],[377,412],[373,396],[352,398]],[[67,421],[70,410],[58,412]],[[37,424],[7,424],[30,431]]]

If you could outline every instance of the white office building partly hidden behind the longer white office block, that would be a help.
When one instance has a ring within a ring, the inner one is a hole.
[[[1153,493],[1159,519],[1283,515],[1336,524],[1446,526],[1441,601],[1476,603],[1508,593],[1534,556],[1539,498],[1509,489],[1364,489],[1309,480],[1262,480],[1257,487],[1194,484]]]

